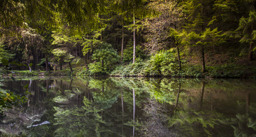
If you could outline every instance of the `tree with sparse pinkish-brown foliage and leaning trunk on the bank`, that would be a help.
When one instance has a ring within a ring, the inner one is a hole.
[[[143,21],[145,26],[145,37],[147,43],[144,45],[147,47],[151,54],[155,54],[156,51],[162,49],[170,49],[171,46],[176,47],[177,58],[179,61],[179,70],[181,70],[180,64],[180,52],[179,43],[176,42],[175,37],[170,35],[170,30],[180,28],[182,22],[181,16],[182,8],[178,7],[178,3],[175,1],[155,1],[151,2],[150,7],[160,13],[157,17],[146,18]]]

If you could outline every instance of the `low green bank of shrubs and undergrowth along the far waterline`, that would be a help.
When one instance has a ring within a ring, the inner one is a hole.
[[[68,67],[64,70],[55,71],[12,71],[10,76],[43,76],[43,75],[90,75],[90,76],[171,76],[190,78],[256,78],[254,65],[237,65],[234,63],[225,65],[206,66],[206,72],[202,73],[200,65],[184,63],[179,70],[177,63],[160,63],[156,65],[149,61],[138,59],[135,63],[122,63],[113,67],[112,70],[99,68],[87,70],[85,66],[75,66],[73,72]]]

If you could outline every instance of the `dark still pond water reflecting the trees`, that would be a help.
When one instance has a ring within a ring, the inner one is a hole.
[[[27,136],[256,136],[256,79],[6,80],[30,95],[1,118]]]

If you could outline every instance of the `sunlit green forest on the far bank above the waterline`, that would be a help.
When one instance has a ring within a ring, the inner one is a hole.
[[[0,6],[2,74],[256,77],[255,0]]]

